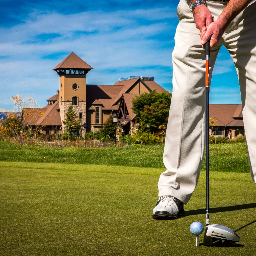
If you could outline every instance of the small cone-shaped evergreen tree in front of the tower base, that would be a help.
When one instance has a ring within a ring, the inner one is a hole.
[[[69,106],[66,113],[66,118],[63,121],[65,125],[64,131],[68,134],[79,134],[82,128],[82,120],[77,118],[77,114],[73,109],[73,106]]]

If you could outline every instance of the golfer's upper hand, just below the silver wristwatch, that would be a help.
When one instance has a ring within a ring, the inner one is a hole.
[[[204,4],[200,4],[194,9],[193,15],[202,40],[208,26],[212,23],[212,14]]]

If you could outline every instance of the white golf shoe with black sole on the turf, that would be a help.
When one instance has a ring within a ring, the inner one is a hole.
[[[185,215],[184,203],[173,196],[160,196],[153,209],[153,219],[177,219]]]

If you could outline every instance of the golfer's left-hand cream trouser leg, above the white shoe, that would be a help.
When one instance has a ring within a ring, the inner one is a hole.
[[[209,5],[215,18],[224,9],[222,4]],[[186,0],[180,1],[178,17],[163,156],[166,171],[160,175],[158,189],[159,196],[171,195],[186,204],[198,182],[205,148],[205,50]],[[222,43],[211,50],[210,77]]]

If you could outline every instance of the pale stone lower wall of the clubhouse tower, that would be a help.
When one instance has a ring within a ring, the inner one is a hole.
[[[60,102],[60,118],[62,122],[62,132],[64,131],[64,124],[63,120],[66,118],[66,113],[68,112],[69,106],[72,106],[72,102],[70,101],[63,101],[62,106]],[[79,118],[79,113],[83,113],[83,118],[82,118],[82,123],[85,122],[86,120],[86,102],[78,102],[78,106],[73,106],[74,111],[76,112],[78,118]],[[84,136],[84,128],[82,127],[82,136]]]

